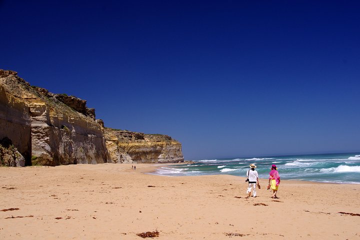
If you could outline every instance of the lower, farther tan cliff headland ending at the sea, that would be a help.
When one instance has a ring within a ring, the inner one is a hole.
[[[116,163],[183,162],[181,143],[167,135],[105,128],[105,138]]]

